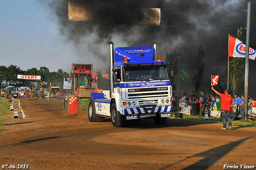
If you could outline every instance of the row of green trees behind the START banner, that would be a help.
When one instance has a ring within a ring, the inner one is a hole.
[[[41,80],[26,80],[18,79],[17,76],[20,75],[33,75],[41,76]],[[44,82],[44,88],[50,86],[59,86],[60,91],[63,90],[63,80],[65,77],[70,77],[70,73],[64,72],[62,69],[59,69],[57,72],[50,72],[48,68],[40,67],[30,68],[28,70],[22,70],[18,66],[10,65],[0,66],[0,86],[5,88],[6,86],[15,86],[15,87],[31,87],[32,82]]]

